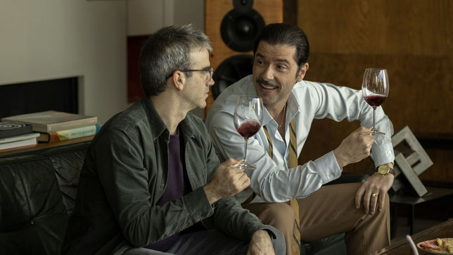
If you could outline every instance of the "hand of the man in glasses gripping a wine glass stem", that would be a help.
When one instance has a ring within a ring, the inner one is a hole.
[[[237,163],[238,161],[235,159],[229,158],[220,164],[215,170],[212,180],[203,187],[210,204],[214,204],[224,197],[234,196],[250,186],[250,178],[244,173],[244,169],[231,167]]]

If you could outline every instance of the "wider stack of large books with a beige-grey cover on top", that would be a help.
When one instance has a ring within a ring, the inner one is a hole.
[[[101,129],[96,116],[85,116],[60,111],[42,111],[2,118],[8,123],[28,124],[39,132],[38,142],[59,142],[96,135]]]

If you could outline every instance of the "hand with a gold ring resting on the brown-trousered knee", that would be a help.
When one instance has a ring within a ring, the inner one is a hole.
[[[388,163],[393,168],[393,163]],[[393,174],[381,175],[374,173],[359,187],[355,194],[355,207],[360,208],[362,201],[365,213],[374,214],[376,209],[382,211],[384,208],[385,194],[393,185]],[[374,195],[374,194],[377,194]]]

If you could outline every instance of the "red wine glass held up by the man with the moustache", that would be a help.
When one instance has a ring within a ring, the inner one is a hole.
[[[385,135],[375,128],[374,112],[388,97],[388,74],[386,69],[366,68],[364,80],[362,81],[362,95],[366,101],[373,107],[373,128],[369,135]]]

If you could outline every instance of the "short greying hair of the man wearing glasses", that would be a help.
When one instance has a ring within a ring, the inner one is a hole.
[[[164,27],[151,35],[141,49],[139,63],[145,96],[165,91],[167,77],[175,70],[191,69],[189,54],[194,49],[212,51],[208,37],[192,24]]]

